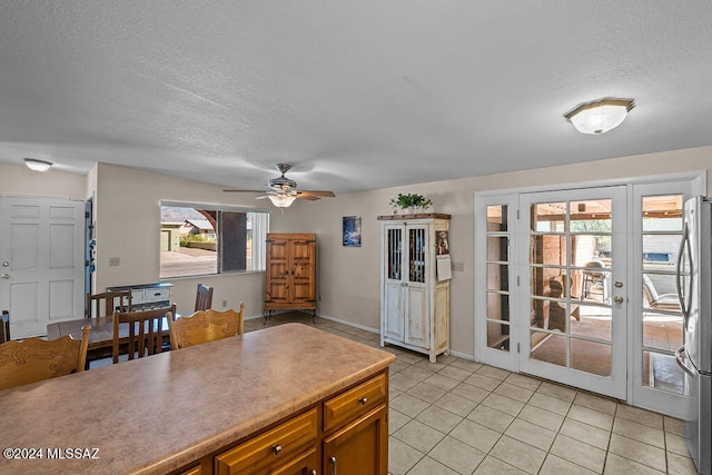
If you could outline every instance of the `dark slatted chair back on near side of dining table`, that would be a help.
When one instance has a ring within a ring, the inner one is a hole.
[[[128,358],[142,358],[161,353],[164,325],[168,325],[176,315],[176,304],[170,307],[151,310],[115,311],[113,313],[113,363],[119,363],[119,350],[123,342],[128,346]],[[167,321],[168,320],[168,321]],[[121,324],[128,324],[128,331],[121,334]]]

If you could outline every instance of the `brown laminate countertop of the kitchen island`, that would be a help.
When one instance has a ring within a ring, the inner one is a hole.
[[[0,473],[167,473],[394,360],[390,353],[286,324],[6,389],[0,448],[43,453],[41,459],[3,456]],[[48,459],[48,449],[65,458]]]

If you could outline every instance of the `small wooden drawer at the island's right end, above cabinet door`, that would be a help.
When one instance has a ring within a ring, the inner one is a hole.
[[[324,403],[324,431],[365,414],[386,398],[386,376],[378,375]]]

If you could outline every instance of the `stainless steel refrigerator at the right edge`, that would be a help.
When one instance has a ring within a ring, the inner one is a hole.
[[[698,472],[712,471],[712,197],[685,202],[678,255],[678,295],[684,318],[676,359],[689,394],[685,438]]]

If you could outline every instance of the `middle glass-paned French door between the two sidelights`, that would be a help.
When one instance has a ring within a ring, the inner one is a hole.
[[[530,239],[522,370],[625,398],[625,188],[521,199]]]

